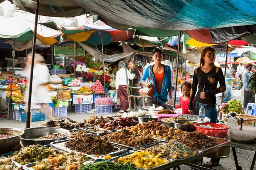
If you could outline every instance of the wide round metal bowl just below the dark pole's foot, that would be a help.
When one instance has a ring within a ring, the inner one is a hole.
[[[51,133],[61,133],[64,134],[64,137],[57,139],[42,139],[38,140],[36,138],[44,135],[49,135]],[[70,135],[70,132],[66,129],[58,128],[58,127],[32,127],[24,130],[24,134],[20,138],[20,144],[22,147],[26,147],[31,144],[50,144],[54,141],[60,141],[67,139],[67,136]]]

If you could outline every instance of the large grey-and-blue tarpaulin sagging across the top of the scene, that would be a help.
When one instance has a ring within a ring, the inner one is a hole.
[[[73,0],[117,29],[195,30],[256,23],[254,0]],[[212,9],[212,10],[209,10]]]

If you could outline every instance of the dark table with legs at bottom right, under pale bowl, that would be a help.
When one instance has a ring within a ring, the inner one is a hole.
[[[232,148],[234,161],[236,164],[236,170],[242,170],[242,167],[239,166],[239,164],[238,164],[238,160],[237,160],[237,156],[236,156],[236,148],[254,151],[253,161],[252,161],[252,164],[250,167],[250,170],[253,170],[254,164],[256,161],[256,143],[248,144],[248,143],[240,143],[240,142],[231,141],[231,142],[225,144],[225,146],[230,146]]]

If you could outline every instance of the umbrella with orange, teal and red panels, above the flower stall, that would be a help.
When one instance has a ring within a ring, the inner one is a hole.
[[[125,41],[133,37],[134,31],[121,31],[107,25],[84,25],[79,27],[63,27],[64,40],[83,42],[94,45],[107,45],[113,41]],[[102,40],[101,40],[102,38]]]

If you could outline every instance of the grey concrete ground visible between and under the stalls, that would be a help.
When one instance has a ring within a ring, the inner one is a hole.
[[[234,97],[234,99],[238,99],[243,101],[243,90],[241,96],[239,97]],[[69,118],[75,120],[75,121],[79,121],[82,122],[83,119],[88,120],[90,116],[92,115],[96,115],[96,116],[103,116],[103,115],[116,115],[116,113],[107,113],[107,114],[89,114],[89,113],[74,113],[74,111],[69,111],[68,112],[68,116]],[[38,127],[39,124],[41,124],[42,122],[47,122],[49,121],[49,118],[46,118],[45,121],[40,121],[40,122],[32,122],[31,126],[32,127]],[[21,122],[18,120],[7,120],[7,118],[3,118],[0,117],[0,127],[17,127],[17,128],[23,128],[25,127],[26,123],[25,122]],[[231,150],[231,155],[228,158],[225,159],[221,159],[220,160],[220,164],[221,166],[216,166],[214,167],[214,169],[216,170],[235,170],[235,163],[234,163],[234,159],[233,159],[233,153]],[[253,159],[253,155],[254,152],[253,151],[249,151],[249,150],[241,150],[241,149],[236,149],[236,154],[237,154],[237,158],[239,161],[239,165],[242,167],[243,170],[250,170],[250,165]],[[204,162],[209,161],[209,158],[204,158],[203,159]],[[186,166],[186,165],[181,165],[180,166],[181,170],[190,170],[191,167]],[[254,170],[256,170],[256,167],[254,167]]]

